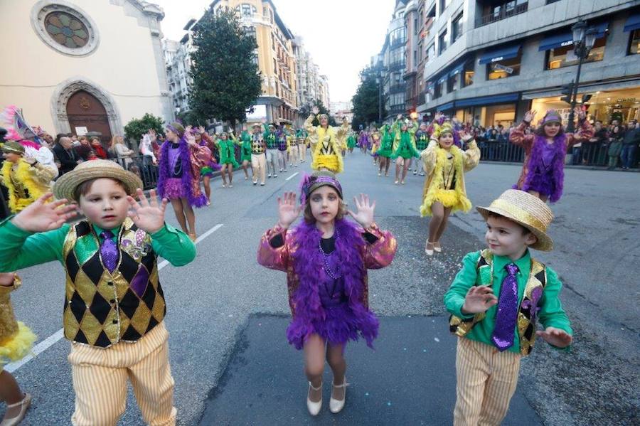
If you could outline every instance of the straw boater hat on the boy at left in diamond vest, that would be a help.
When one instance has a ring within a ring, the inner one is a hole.
[[[114,161],[91,160],[78,164],[75,169],[60,176],[53,186],[53,195],[58,200],[66,198],[69,201],[78,201],[75,200],[75,188],[82,182],[98,178],[121,181],[130,196],[133,196],[138,188],[142,188],[142,181],[136,174],[122,169],[122,166]]]

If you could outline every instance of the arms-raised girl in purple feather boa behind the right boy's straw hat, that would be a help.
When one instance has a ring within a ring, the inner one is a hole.
[[[511,143],[525,150],[522,173],[513,189],[527,191],[542,201],[555,203],[560,200],[565,181],[567,149],[579,142],[589,142],[594,134],[585,111],[576,107],[575,113],[579,128],[576,133],[565,133],[562,119],[555,110],[547,111],[535,134],[525,134],[525,130],[533,121],[536,111],[528,111],[523,122],[511,131]]]

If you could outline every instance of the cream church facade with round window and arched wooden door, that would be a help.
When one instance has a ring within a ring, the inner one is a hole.
[[[159,6],[3,0],[0,15],[0,105],[22,108],[32,125],[107,140],[147,112],[171,119]]]

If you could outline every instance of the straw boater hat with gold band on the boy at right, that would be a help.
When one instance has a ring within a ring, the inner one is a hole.
[[[547,235],[547,228],[553,220],[553,213],[540,198],[525,191],[508,189],[489,207],[476,207],[484,220],[489,212],[497,213],[513,220],[531,231],[538,241],[530,245],[535,250],[549,252],[553,250],[553,240]]]

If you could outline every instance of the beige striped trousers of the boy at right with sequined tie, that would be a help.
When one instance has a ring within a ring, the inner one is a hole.
[[[516,392],[520,353],[458,338],[454,426],[497,426]]]

